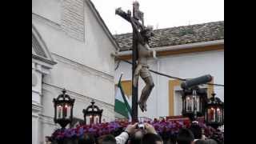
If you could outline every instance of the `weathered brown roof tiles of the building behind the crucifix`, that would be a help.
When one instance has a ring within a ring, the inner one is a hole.
[[[150,47],[175,46],[194,42],[224,39],[224,21],[154,30]],[[116,34],[115,41],[121,51],[131,50],[132,34]]]

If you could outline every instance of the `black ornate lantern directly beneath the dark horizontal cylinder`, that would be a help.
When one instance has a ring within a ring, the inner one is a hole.
[[[192,121],[197,117],[202,117],[205,113],[206,100],[206,90],[199,89],[198,86],[190,90],[183,90],[182,115],[189,117]]]

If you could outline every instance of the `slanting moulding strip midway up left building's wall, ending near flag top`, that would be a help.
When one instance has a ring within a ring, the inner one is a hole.
[[[54,54],[54,53],[52,53],[52,54],[54,55],[54,58],[58,62],[68,64],[70,66],[73,66],[74,68],[77,68],[78,70],[82,70],[83,72],[93,74],[93,75],[97,75],[99,77],[102,77],[102,78],[105,78],[105,79],[109,80],[110,82],[114,82],[114,76],[113,75],[106,74],[105,72],[95,70],[95,69],[93,69],[89,66],[82,65],[81,63],[78,63],[78,62],[74,62],[73,60],[70,60],[68,58],[64,58],[61,55]]]

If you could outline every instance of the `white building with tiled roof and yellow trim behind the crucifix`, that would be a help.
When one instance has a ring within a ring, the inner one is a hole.
[[[197,78],[205,74],[214,77],[212,82],[224,85],[224,22],[210,22],[194,26],[179,26],[154,30],[150,47],[157,52],[158,59],[150,58],[150,70],[178,78]],[[120,46],[118,56],[131,62],[131,34],[115,35]],[[119,64],[118,64],[119,63]],[[123,73],[122,82],[125,89],[131,90],[132,66],[129,63],[116,61],[118,69],[115,82]],[[181,115],[182,95],[181,81],[154,74],[154,89],[147,102],[147,111],[138,108],[138,116],[159,118]],[[145,86],[142,78],[138,82],[138,97]],[[127,88],[128,87],[128,88]],[[202,86],[213,92],[224,102],[224,86]],[[131,94],[131,92],[127,92]],[[129,95],[126,94],[126,95]],[[138,98],[139,99],[139,98]],[[131,102],[131,98],[130,98]]]

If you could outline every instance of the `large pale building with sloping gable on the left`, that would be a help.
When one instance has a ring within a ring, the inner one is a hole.
[[[32,1],[32,143],[54,124],[53,98],[75,98],[74,118],[94,100],[102,119],[114,120],[114,38],[90,0]]]

